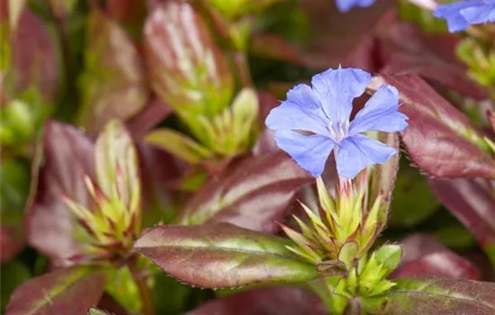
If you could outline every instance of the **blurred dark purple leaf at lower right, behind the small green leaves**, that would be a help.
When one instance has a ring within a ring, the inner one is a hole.
[[[480,272],[469,260],[426,234],[414,234],[401,242],[404,256],[394,278],[444,276],[480,280]]]

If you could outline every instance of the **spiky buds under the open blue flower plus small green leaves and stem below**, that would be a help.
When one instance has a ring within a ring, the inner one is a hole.
[[[388,217],[387,193],[374,193],[370,184],[374,174],[366,168],[354,180],[340,177],[333,193],[317,178],[319,211],[302,204],[310,223],[294,216],[301,232],[283,226],[295,245],[288,248],[326,276],[324,298],[335,313],[353,297],[374,298],[395,285],[386,277],[399,265],[401,247],[370,251]]]

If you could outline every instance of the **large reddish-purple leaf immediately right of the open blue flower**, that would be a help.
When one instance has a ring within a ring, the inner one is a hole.
[[[377,76],[371,89],[383,82],[401,92],[401,112],[409,127],[401,132],[410,159],[436,177],[495,178],[495,159],[483,148],[483,134],[419,76]]]

